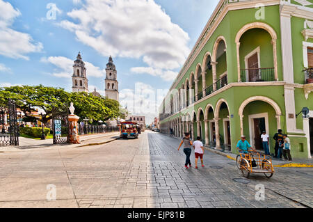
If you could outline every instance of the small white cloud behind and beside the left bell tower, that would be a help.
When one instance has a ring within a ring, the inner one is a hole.
[[[50,56],[49,58],[41,58],[44,63],[51,63],[56,66],[55,72],[52,74],[59,78],[71,78],[73,74],[74,60],[63,56]],[[84,62],[87,69],[88,77],[104,77],[104,70],[93,65],[92,63]]]

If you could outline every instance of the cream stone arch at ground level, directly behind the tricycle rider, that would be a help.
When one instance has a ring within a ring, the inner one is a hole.
[[[276,118],[277,118],[277,128],[280,129],[280,116],[282,116],[282,110],[280,109],[280,106],[274,101],[271,100],[268,97],[264,97],[264,96],[255,96],[255,97],[250,97],[247,100],[243,101],[241,103],[241,106],[239,107],[239,118],[240,118],[240,128],[241,128],[241,135],[243,134],[243,110],[245,109],[245,107],[250,103],[250,102],[254,102],[254,101],[262,101],[262,102],[266,102],[268,104],[270,104],[273,109],[276,112]]]

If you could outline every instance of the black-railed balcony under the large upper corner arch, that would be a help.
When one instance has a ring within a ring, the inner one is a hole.
[[[275,81],[274,68],[258,68],[241,70],[242,82]]]

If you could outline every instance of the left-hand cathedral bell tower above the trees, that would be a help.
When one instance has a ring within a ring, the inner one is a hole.
[[[89,93],[85,63],[83,63],[83,59],[81,58],[80,53],[77,55],[76,61],[74,61],[73,70],[74,70],[74,73],[72,76],[73,93],[79,93],[79,92]]]

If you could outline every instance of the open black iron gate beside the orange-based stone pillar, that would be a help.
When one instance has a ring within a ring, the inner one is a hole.
[[[65,104],[61,110],[53,109],[52,131],[54,144],[69,143],[68,105]]]

